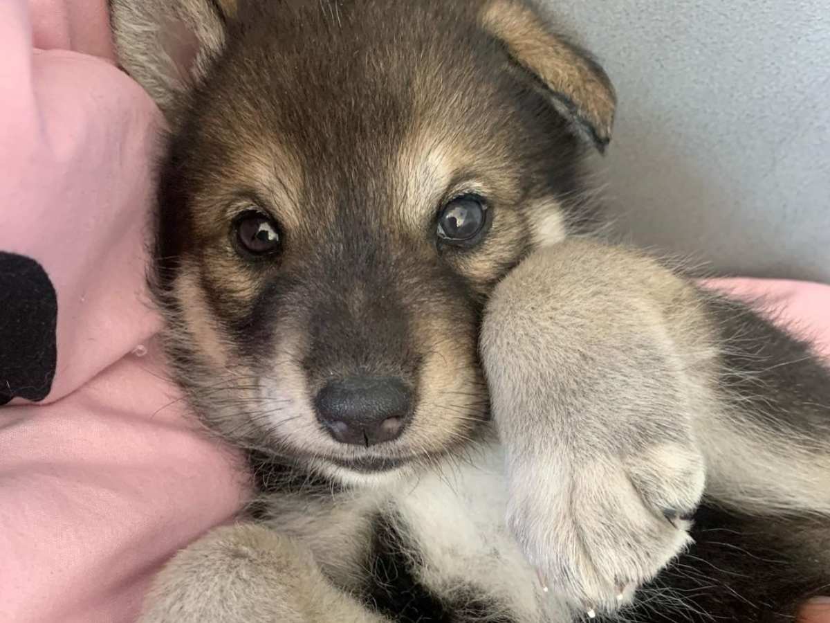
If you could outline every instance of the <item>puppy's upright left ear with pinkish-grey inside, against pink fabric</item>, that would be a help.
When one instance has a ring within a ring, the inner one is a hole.
[[[110,0],[121,66],[169,117],[225,45],[237,0]]]

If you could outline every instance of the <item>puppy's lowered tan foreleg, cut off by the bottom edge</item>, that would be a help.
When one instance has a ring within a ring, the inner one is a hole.
[[[223,527],[159,574],[141,623],[381,623],[331,585],[310,551],[253,524]]]

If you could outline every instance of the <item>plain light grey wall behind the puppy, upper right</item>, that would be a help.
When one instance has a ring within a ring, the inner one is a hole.
[[[619,228],[830,282],[830,0],[544,0],[618,89]]]

